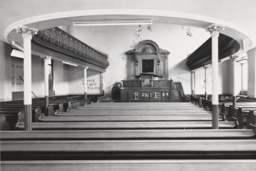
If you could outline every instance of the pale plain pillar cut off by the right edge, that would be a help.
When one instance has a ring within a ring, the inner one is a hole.
[[[256,98],[256,47],[248,50],[248,97]]]

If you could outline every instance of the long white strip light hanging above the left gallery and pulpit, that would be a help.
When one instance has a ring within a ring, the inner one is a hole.
[[[151,19],[142,20],[95,20],[95,21],[74,21],[74,26],[104,26],[104,25],[151,25]]]

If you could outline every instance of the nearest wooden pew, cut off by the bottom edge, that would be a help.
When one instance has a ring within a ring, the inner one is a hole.
[[[226,171],[254,170],[256,160],[41,160],[41,161],[2,161],[5,171]]]

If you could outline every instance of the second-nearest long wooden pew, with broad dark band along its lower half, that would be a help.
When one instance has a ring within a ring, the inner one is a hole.
[[[256,140],[2,140],[2,160],[256,159]]]

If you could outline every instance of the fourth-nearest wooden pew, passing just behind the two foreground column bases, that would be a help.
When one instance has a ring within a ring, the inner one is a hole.
[[[24,129],[24,123],[18,122],[18,130]],[[234,121],[220,121],[219,128],[235,128]],[[88,130],[88,129],[211,129],[212,121],[108,121],[108,122],[37,122],[32,123],[33,130]]]

